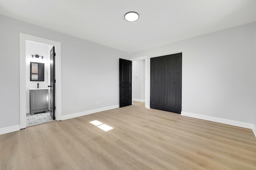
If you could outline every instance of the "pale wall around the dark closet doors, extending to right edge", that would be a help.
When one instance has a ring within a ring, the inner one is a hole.
[[[130,58],[182,52],[182,111],[254,123],[255,27],[255,22],[241,25],[131,53]]]

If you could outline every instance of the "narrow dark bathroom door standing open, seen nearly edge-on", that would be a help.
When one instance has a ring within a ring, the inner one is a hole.
[[[55,120],[55,50],[50,51],[50,115]]]

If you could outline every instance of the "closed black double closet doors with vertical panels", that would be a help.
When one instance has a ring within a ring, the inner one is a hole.
[[[182,53],[150,59],[150,108],[181,112]]]

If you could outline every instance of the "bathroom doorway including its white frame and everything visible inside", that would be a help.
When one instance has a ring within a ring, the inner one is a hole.
[[[52,49],[55,49],[56,52]],[[20,129],[53,121],[55,118],[61,120],[60,52],[59,42],[20,33]],[[53,74],[55,77],[52,78],[54,85],[50,83],[51,54],[57,56],[55,68],[53,68],[55,70]],[[38,63],[38,68],[35,68],[31,63]],[[44,79],[41,79],[42,76],[39,71],[42,64],[44,65]],[[37,73],[35,73],[36,70]],[[38,78],[38,80],[35,78]],[[56,80],[58,80],[58,83],[56,83]],[[54,89],[56,89],[55,92]],[[54,100],[53,94],[55,94],[56,100]],[[53,103],[53,105],[50,103]],[[50,110],[53,113],[52,117]]]

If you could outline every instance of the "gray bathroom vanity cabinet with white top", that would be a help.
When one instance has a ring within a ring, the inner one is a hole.
[[[34,88],[29,90],[30,115],[48,112],[48,88]]]

